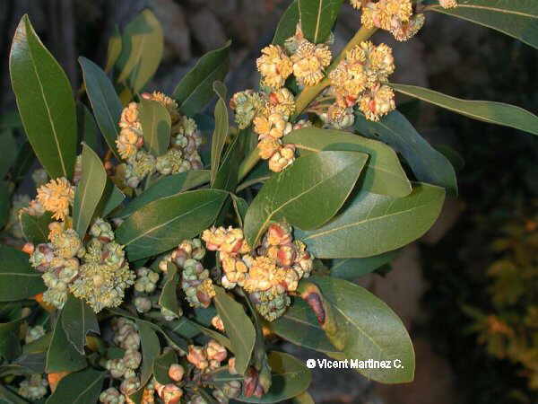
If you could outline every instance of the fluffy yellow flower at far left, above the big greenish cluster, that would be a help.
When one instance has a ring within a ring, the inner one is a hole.
[[[73,205],[74,187],[64,177],[50,180],[38,189],[37,200],[41,206],[52,212],[56,220],[64,220]]]

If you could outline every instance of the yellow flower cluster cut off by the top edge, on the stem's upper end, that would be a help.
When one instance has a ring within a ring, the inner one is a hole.
[[[413,13],[412,0],[351,0],[351,5],[362,10],[363,26],[390,31],[396,40],[410,40],[424,25],[424,14]]]

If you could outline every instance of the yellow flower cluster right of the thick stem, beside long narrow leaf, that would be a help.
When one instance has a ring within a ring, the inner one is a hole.
[[[343,126],[353,105],[359,105],[366,118],[374,121],[395,110],[395,94],[384,84],[394,71],[392,49],[385,44],[364,41],[351,48],[329,75],[329,91],[335,98],[329,119]]]

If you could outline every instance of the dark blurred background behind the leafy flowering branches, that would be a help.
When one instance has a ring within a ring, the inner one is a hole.
[[[164,61],[148,88],[172,92],[198,57],[232,39],[230,92],[255,88],[255,60],[290,0],[1,0],[0,116],[14,109],[8,54],[29,13],[74,88],[77,57],[104,65],[108,39],[144,7],[165,32]],[[334,48],[360,27],[343,9]],[[538,51],[499,32],[427,15],[421,33],[395,43],[395,83],[460,98],[503,101],[538,113]],[[315,370],[318,403],[491,404],[538,402],[538,139],[400,99],[422,136],[451,156],[459,198],[390,268],[357,280],[404,320],[417,357],[415,382],[384,386],[351,371]],[[0,119],[0,131],[5,123]],[[284,348],[302,358],[319,354]]]

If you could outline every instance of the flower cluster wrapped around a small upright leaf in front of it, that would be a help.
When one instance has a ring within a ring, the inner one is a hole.
[[[143,93],[143,99],[158,101],[170,114],[171,138],[165,154],[155,157],[143,149],[143,129],[139,117],[139,104],[131,102],[122,111],[121,128],[116,145],[120,156],[126,160],[120,171],[125,175],[126,185],[138,187],[144,177],[158,172],[161,175],[177,174],[202,168],[197,152],[202,138],[194,119],[182,116],[178,104],[162,92]]]

